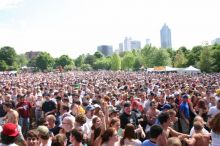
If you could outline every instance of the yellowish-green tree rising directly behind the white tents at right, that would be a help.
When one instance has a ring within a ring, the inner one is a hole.
[[[181,50],[178,50],[174,59],[175,67],[185,67],[187,59]]]

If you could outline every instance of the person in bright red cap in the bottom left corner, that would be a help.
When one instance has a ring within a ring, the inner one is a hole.
[[[17,125],[13,123],[7,123],[3,126],[1,132],[1,142],[0,146],[18,146],[15,144],[16,138],[19,132],[17,130]]]

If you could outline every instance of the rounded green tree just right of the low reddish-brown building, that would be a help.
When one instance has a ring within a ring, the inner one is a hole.
[[[52,68],[53,65],[54,59],[47,52],[41,52],[36,58],[36,66],[42,71]]]

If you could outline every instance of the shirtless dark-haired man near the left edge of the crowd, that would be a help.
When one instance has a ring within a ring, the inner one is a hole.
[[[18,125],[19,114],[16,110],[12,109],[12,104],[10,102],[5,102],[3,109],[7,112],[4,120],[6,123],[14,123]]]

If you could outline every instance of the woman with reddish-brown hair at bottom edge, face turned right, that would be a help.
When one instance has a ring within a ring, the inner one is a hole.
[[[102,134],[101,146],[116,146],[118,140],[117,131],[114,128],[108,128]]]

